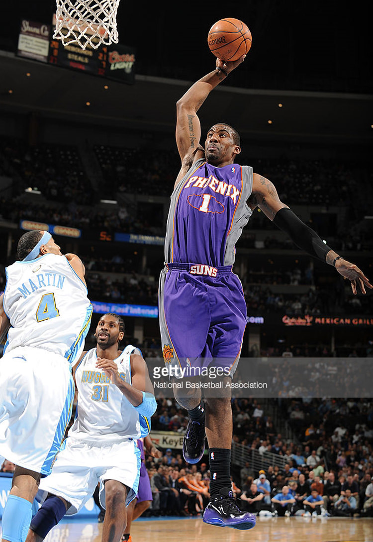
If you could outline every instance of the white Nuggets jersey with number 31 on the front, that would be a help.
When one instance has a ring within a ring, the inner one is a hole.
[[[126,346],[114,360],[121,378],[131,384],[131,354],[139,353]],[[84,441],[115,442],[139,438],[150,431],[150,420],[139,415],[111,377],[97,369],[96,349],[88,350],[75,371],[78,405],[68,436]]]

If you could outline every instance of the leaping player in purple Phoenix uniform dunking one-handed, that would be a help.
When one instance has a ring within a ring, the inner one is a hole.
[[[230,387],[246,326],[246,303],[232,272],[235,243],[255,207],[284,230],[308,254],[336,268],[352,291],[372,288],[362,271],[328,247],[282,203],[274,185],[235,164],[239,134],[218,122],[202,147],[197,111],[209,93],[245,59],[223,63],[194,83],[177,103],[176,141],[182,166],[171,196],[165,238],[165,268],[159,280],[159,315],[163,353],[171,367],[221,367],[224,397],[205,397],[201,388],[175,389],[189,412],[184,437],[186,461],[197,463],[209,446],[210,502],[203,521],[249,529],[255,516],[242,512],[231,492],[230,448],[233,422]],[[215,380],[216,381],[216,380]]]

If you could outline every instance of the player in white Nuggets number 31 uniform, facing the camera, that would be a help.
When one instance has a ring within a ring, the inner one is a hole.
[[[27,542],[41,542],[65,513],[79,512],[98,483],[106,508],[102,542],[121,540],[126,505],[138,491],[141,460],[136,439],[149,433],[157,406],[141,352],[132,345],[118,349],[123,337],[123,319],[104,314],[95,331],[97,346],[83,352],[74,367],[75,421],[53,475],[40,483],[47,498],[31,521]]]

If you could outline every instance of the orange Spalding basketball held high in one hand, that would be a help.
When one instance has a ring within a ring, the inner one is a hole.
[[[207,43],[211,53],[224,62],[238,60],[251,47],[251,32],[239,19],[221,19],[210,28]]]

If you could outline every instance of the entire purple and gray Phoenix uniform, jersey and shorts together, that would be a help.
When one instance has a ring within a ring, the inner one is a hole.
[[[253,170],[197,160],[176,186],[159,279],[163,357],[178,367],[228,367],[233,375],[246,327],[235,244],[252,210]]]

